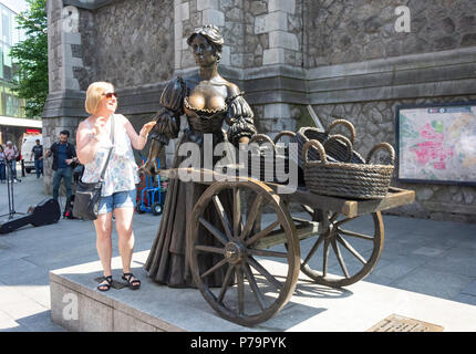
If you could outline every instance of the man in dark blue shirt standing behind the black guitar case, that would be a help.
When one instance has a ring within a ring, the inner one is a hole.
[[[66,188],[66,197],[72,195],[71,180],[73,177],[72,163],[77,162],[76,150],[73,145],[68,143],[70,137],[69,131],[60,132],[60,140],[51,145],[45,156],[53,156],[53,199],[58,200],[61,179],[64,179],[64,187]]]

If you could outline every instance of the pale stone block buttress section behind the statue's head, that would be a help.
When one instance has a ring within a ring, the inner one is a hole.
[[[302,1],[296,0],[189,0],[176,17],[182,38],[176,67],[195,65],[186,38],[199,25],[214,23],[225,39],[221,64],[257,67],[268,64],[302,65]],[[182,25],[182,28],[180,28]]]

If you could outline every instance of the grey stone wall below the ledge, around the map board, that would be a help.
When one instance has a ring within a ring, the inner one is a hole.
[[[328,127],[334,117],[349,119],[356,131],[354,148],[365,158],[370,149],[381,142],[395,146],[396,106],[467,101],[476,101],[476,95],[314,105],[313,108],[324,127]],[[335,132],[349,136],[345,129]],[[391,209],[386,211],[387,214],[435,220],[476,221],[475,187],[410,184],[397,181],[395,178],[392,180],[392,186],[415,190],[416,200],[412,205]]]

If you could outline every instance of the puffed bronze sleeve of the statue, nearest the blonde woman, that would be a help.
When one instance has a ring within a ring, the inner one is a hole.
[[[167,83],[162,92],[161,106],[155,116],[156,124],[148,135],[151,138],[167,145],[169,139],[178,136],[186,94],[187,86],[182,77],[176,77]]]

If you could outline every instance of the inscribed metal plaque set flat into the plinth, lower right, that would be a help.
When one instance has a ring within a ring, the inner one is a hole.
[[[366,332],[443,332],[441,325],[391,314]]]

